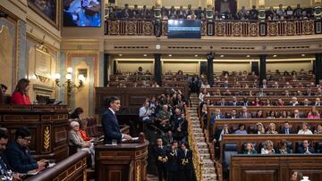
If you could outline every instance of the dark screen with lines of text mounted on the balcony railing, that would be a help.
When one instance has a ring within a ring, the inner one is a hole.
[[[200,38],[200,20],[169,20],[169,38]]]

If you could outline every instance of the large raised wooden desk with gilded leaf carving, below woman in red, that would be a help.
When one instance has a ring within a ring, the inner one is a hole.
[[[68,110],[57,105],[10,105],[0,104],[0,126],[7,128],[13,140],[17,128],[30,128],[31,154],[37,159],[54,159],[56,162],[68,157]]]

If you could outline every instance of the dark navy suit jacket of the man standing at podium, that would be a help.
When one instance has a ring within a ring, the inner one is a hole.
[[[112,140],[116,139],[118,142],[122,140],[122,133],[118,125],[116,116],[109,109],[102,117],[102,127],[104,130],[104,144],[112,144]]]

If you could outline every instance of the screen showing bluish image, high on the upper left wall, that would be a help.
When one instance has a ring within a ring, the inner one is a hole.
[[[64,27],[100,27],[101,0],[64,0]]]

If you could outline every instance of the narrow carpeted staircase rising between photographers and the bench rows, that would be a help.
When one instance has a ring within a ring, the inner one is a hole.
[[[198,107],[199,107],[199,99],[196,94],[191,94],[190,97],[191,100],[191,106],[187,108],[188,110],[188,116],[190,118],[187,118],[189,124],[192,124],[192,133],[191,134],[191,140],[194,140],[194,143],[191,143],[192,149],[194,148],[194,152],[197,153],[197,156],[199,157],[199,165],[200,169],[196,170],[197,178],[202,181],[215,181],[217,180],[216,177],[216,168],[215,168],[215,162],[211,160],[211,156],[208,149],[208,144],[206,143],[205,134],[201,128],[200,121],[198,118]],[[194,157],[196,155],[193,155]],[[196,164],[196,162],[194,162]],[[195,166],[195,169],[197,167]],[[200,173],[198,173],[200,172]],[[199,175],[199,176],[198,176]]]

